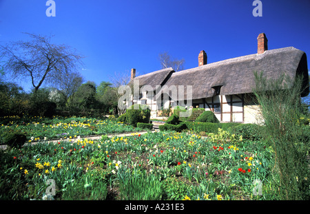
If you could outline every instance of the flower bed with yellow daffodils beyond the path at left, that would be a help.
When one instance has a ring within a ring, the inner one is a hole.
[[[105,135],[138,131],[114,118],[98,120],[96,118],[62,118],[52,119],[41,117],[19,118],[16,116],[0,118],[0,142],[4,133],[21,131],[26,133],[27,141],[54,140],[76,138],[77,136]]]

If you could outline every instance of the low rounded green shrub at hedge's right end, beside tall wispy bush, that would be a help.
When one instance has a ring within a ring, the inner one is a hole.
[[[234,133],[238,136],[242,136],[244,139],[248,140],[260,140],[262,128],[257,124],[240,124],[234,128]]]

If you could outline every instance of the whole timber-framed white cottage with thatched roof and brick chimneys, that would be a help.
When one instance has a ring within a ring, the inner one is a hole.
[[[158,110],[176,105],[189,107],[190,103],[192,107],[214,111],[221,122],[257,122],[258,107],[249,98],[255,85],[254,72],[263,72],[269,79],[283,73],[291,78],[302,74],[302,84],[307,89],[301,96],[309,94],[306,54],[295,47],[268,50],[267,37],[262,33],[258,36],[256,54],[207,64],[207,54],[201,51],[198,67],[192,69],[174,72],[166,68],[141,76],[135,76],[136,70],[132,69],[129,85],[136,81],[140,93],[132,96],[131,104],[149,105],[152,117],[158,115]],[[188,94],[189,89],[192,94]]]

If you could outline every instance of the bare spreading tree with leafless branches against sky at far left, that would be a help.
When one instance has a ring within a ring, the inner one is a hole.
[[[28,34],[28,33],[27,33]],[[30,78],[34,92],[43,83],[54,84],[68,72],[82,65],[83,56],[67,45],[50,43],[51,37],[28,34],[31,41],[11,42],[0,46],[0,56],[6,58],[4,69],[14,78]]]

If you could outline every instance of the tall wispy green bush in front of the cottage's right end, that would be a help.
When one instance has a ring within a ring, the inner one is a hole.
[[[280,76],[269,81],[262,72],[254,73],[254,94],[265,122],[267,140],[271,142],[276,168],[280,177],[282,200],[309,200],[309,141],[300,138],[303,133],[299,119],[302,116],[300,92],[302,77],[294,80]]]

